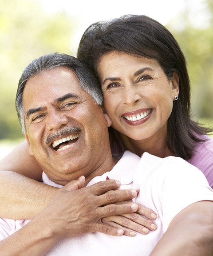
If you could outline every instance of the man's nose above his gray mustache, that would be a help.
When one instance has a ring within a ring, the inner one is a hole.
[[[51,111],[47,116],[47,124],[46,127],[49,131],[58,130],[60,128],[63,128],[64,126],[67,126],[68,124],[68,118],[59,110]]]

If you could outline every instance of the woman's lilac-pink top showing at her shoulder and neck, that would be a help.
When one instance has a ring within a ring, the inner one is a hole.
[[[122,156],[126,148],[118,132],[114,132],[114,135],[117,142],[112,141],[110,138],[112,153],[114,156]],[[200,138],[206,141],[197,143],[193,157],[187,162],[200,169],[208,180],[209,185],[213,188],[213,139],[207,135],[202,135]]]

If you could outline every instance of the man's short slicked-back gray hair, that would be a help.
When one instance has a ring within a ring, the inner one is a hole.
[[[98,105],[103,104],[103,95],[99,87],[99,82],[93,72],[88,69],[85,64],[73,56],[57,52],[40,56],[24,69],[16,92],[16,111],[24,134],[26,133],[26,127],[22,96],[25,84],[31,77],[35,77],[42,72],[56,67],[66,67],[73,71],[79,81],[79,86],[86,91]]]

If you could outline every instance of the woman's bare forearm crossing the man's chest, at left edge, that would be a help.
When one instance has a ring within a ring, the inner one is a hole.
[[[0,216],[8,219],[32,219],[55,195],[57,188],[16,172],[0,171]]]

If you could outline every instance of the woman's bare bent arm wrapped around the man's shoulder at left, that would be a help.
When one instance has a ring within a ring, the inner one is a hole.
[[[29,155],[26,141],[0,161],[0,170],[1,217],[31,219],[47,206],[57,191],[36,181],[41,180],[42,170]]]

